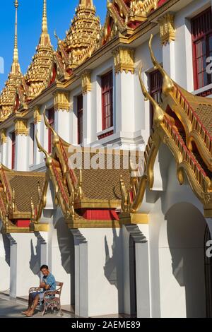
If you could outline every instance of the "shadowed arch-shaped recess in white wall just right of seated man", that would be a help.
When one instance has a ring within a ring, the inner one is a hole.
[[[55,226],[57,230],[57,241],[61,254],[61,265],[66,273],[71,276],[71,305],[75,302],[75,271],[74,271],[74,239],[71,231],[67,227],[64,218],[60,218]]]

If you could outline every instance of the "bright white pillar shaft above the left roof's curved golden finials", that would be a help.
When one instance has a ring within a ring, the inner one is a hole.
[[[69,137],[69,110],[58,109],[55,113],[55,131],[57,134],[64,139],[64,141],[70,141]]]

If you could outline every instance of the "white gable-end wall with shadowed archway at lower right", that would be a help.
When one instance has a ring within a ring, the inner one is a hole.
[[[175,160],[165,149],[163,158],[170,160],[166,169],[167,188],[158,191],[158,195],[146,193],[146,201],[152,203],[149,214],[152,316],[205,316],[206,221],[190,186],[177,182]]]

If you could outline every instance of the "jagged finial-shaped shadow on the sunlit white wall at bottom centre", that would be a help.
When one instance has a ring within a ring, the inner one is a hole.
[[[105,236],[105,277],[111,285],[117,287],[118,290],[118,302],[119,313],[122,313],[123,304],[123,289],[122,289],[122,229],[119,236],[117,236],[117,229],[112,228],[113,232],[113,244],[112,244],[112,256],[110,257],[109,247],[107,243],[107,237]]]

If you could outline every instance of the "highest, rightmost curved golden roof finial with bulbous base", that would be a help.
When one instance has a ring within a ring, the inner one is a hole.
[[[170,78],[170,76],[167,75],[167,73],[165,72],[165,70],[163,69],[162,66],[160,66],[160,64],[158,63],[158,61],[155,58],[155,55],[153,54],[153,49],[152,49],[152,40],[153,40],[153,35],[151,35],[151,38],[149,40],[148,43],[148,47],[150,49],[150,53],[151,53],[151,59],[153,61],[153,65],[155,66],[155,69],[158,69],[160,71],[160,73],[163,76],[163,93],[164,95],[167,95],[168,93],[172,92],[174,89],[174,84],[172,82],[172,79]]]

